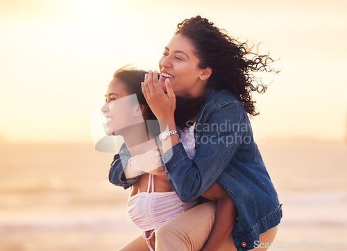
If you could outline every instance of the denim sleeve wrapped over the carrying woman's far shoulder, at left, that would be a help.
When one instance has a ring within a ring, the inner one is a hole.
[[[126,148],[126,145],[123,144],[119,150],[119,153],[113,157],[110,172],[108,173],[108,180],[110,180],[110,182],[116,186],[124,187],[124,189],[128,189],[129,187],[133,186],[137,180],[139,180],[139,176],[137,176],[135,179],[128,180],[124,177],[123,170],[130,157],[131,155],[128,148]]]

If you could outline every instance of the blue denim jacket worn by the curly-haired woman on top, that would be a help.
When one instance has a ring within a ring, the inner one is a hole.
[[[196,153],[189,159],[181,143],[160,157],[171,187],[183,202],[201,196],[217,181],[237,207],[232,239],[237,250],[256,247],[259,235],[280,223],[282,209],[253,139],[246,110],[227,90],[208,88],[196,116]],[[125,151],[123,148],[121,151]],[[127,157],[121,162],[126,163]],[[125,189],[134,180],[124,180],[119,155],[110,169],[110,182]]]

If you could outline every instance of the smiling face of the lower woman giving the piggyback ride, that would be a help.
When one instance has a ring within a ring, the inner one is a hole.
[[[108,135],[126,134],[126,129],[144,121],[136,95],[126,92],[124,83],[114,78],[108,85],[106,103],[101,108]]]

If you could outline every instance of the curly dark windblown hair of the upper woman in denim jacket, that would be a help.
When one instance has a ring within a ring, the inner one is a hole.
[[[262,94],[267,87],[261,81],[258,83],[252,72],[279,72],[269,67],[268,63],[274,61],[269,58],[269,53],[253,53],[253,47],[249,49],[246,42],[238,42],[225,30],[214,26],[212,21],[200,16],[185,19],[178,24],[175,35],[178,34],[189,38],[195,46],[195,55],[200,60],[198,67],[212,69],[208,86],[214,89],[228,89],[244,104],[248,114],[259,114],[255,112],[252,92]],[[253,58],[247,58],[249,55],[253,55]]]

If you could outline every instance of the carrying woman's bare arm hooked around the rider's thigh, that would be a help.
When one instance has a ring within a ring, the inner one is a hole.
[[[202,196],[217,200],[217,211],[210,236],[201,250],[218,250],[234,229],[237,208],[228,193],[217,182],[214,182]]]

